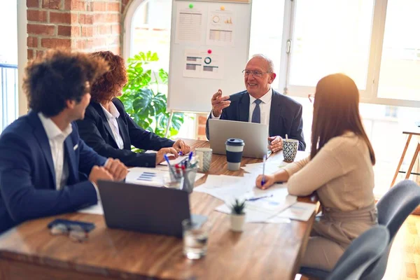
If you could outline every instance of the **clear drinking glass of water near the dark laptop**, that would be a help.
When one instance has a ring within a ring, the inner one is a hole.
[[[182,221],[183,253],[190,260],[197,260],[207,254],[207,239],[211,225],[194,223],[190,219]]]

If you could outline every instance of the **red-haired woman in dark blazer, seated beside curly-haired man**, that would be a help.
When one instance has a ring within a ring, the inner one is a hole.
[[[164,161],[166,153],[177,158],[179,151],[190,151],[182,140],[174,142],[139,127],[125,112],[123,103],[116,98],[123,94],[127,83],[123,57],[109,51],[93,52],[91,56],[105,59],[110,70],[92,84],[85,118],[77,122],[80,137],[87,145],[99,155],[118,158],[130,167],[155,167]],[[158,153],[134,153],[131,146]]]

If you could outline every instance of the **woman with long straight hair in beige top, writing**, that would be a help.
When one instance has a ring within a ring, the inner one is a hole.
[[[331,270],[353,239],[377,224],[374,151],[358,109],[356,84],[343,74],[319,80],[314,95],[311,155],[256,179],[267,189],[287,182],[290,195],[316,192],[322,216],[311,232],[301,265]]]

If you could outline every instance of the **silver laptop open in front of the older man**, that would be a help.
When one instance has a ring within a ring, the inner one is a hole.
[[[210,148],[213,153],[226,154],[225,142],[229,138],[244,140],[243,157],[263,158],[271,153],[268,148],[268,125],[234,120],[209,120]]]

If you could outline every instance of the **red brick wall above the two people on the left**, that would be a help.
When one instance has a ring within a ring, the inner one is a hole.
[[[122,0],[27,0],[28,59],[66,47],[120,54]]]

